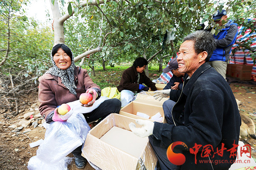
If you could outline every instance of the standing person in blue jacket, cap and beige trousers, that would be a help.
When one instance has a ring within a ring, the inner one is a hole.
[[[233,44],[236,42],[237,24],[232,20],[227,20],[227,12],[222,10],[216,12],[212,19],[216,24],[222,27],[215,38],[216,49],[209,60],[209,64],[226,79],[227,62],[230,57],[230,52]]]

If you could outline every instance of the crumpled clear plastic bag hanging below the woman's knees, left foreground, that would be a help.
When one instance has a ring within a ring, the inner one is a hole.
[[[44,141],[38,147],[36,156],[29,159],[29,170],[64,170],[69,159],[65,158],[74,149],[83,144],[90,130],[84,115],[73,113],[67,121],[44,124],[47,128]],[[38,164],[40,166],[38,166]]]

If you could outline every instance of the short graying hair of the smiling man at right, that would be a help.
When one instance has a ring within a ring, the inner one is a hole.
[[[197,54],[204,51],[208,53],[207,58],[205,59],[206,62],[210,60],[213,51],[216,49],[214,37],[208,31],[199,30],[193,32],[186,36],[183,42],[186,40],[191,40],[194,42],[194,50]]]

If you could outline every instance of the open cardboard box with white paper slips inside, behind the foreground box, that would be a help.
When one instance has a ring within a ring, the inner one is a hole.
[[[137,112],[145,113],[145,114],[149,115],[150,117],[149,117],[149,119],[143,118],[141,116],[138,116]],[[127,104],[125,107],[123,107],[120,110],[119,114],[131,117],[131,118],[135,118],[135,119],[144,119],[144,120],[153,121],[150,118],[152,116],[154,116],[155,114],[157,114],[158,112],[163,117],[163,120],[161,121],[161,123],[166,123],[166,119],[164,117],[162,106],[141,103],[140,101],[132,101],[131,103]]]

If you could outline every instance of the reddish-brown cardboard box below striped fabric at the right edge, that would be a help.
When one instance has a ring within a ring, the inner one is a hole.
[[[253,66],[243,65],[243,64],[234,64],[235,71],[234,71],[234,78],[239,80],[250,80]]]

